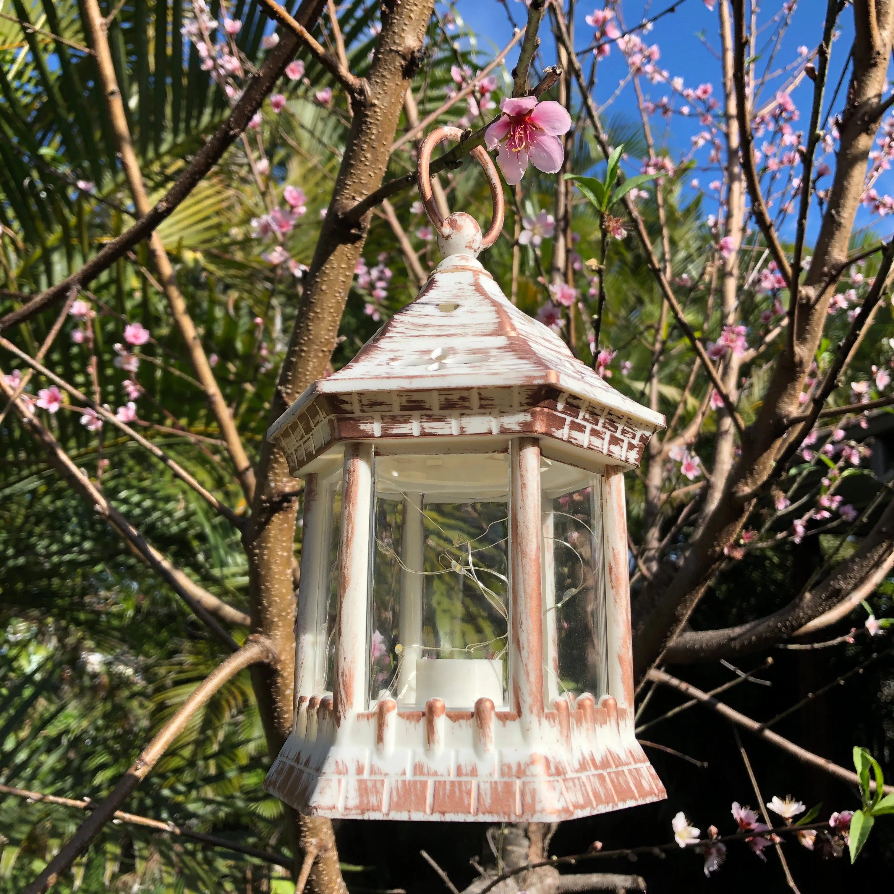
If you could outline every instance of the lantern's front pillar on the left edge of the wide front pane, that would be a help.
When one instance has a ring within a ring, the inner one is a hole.
[[[362,711],[367,701],[369,541],[373,508],[373,446],[351,443],[342,471],[342,539],[338,557],[335,625],[335,722]]]

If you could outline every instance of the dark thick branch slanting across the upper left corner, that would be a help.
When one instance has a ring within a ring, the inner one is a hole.
[[[322,8],[323,0],[302,0],[299,10],[295,14],[302,21],[316,21]],[[233,106],[227,120],[207,140],[171,189],[164,194],[164,198],[161,198],[152,207],[148,215],[140,218],[120,236],[106,242],[105,247],[80,267],[80,270],[66,277],[61,283],[56,283],[46,291],[40,292],[24,307],[0,317],[0,332],[10,326],[24,323],[46,308],[52,307],[68,295],[72,288],[86,286],[112,266],[119,257],[123,257],[138,242],[147,239],[162,221],[173,214],[174,209],[190,195],[190,192],[221,159],[223,153],[239,138],[240,133],[249,126],[249,121],[261,107],[267,94],[274,89],[276,81],[282,76],[286,65],[291,62],[298,47],[299,38],[291,31],[287,31],[283,39],[266,56],[260,72],[249,82],[249,86],[245,89],[239,102]]]

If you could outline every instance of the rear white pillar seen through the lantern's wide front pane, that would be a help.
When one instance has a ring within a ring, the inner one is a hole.
[[[403,501],[403,535],[401,541],[401,671],[398,674],[399,704],[416,704],[416,662],[422,657],[422,597],[425,547],[422,494],[408,493]]]

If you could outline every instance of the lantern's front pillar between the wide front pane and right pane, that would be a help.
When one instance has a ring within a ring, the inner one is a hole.
[[[510,442],[510,611],[511,704],[522,735],[539,727],[544,715],[544,606],[540,588],[540,443]]]

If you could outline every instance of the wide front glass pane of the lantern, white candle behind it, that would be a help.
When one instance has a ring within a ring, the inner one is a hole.
[[[370,701],[505,706],[508,507],[505,453],[376,459]]]

